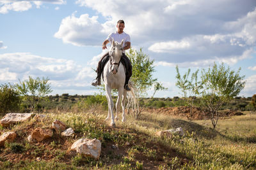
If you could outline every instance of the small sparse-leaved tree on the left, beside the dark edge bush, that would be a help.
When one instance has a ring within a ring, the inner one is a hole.
[[[16,85],[17,91],[24,96],[25,101],[28,101],[32,111],[35,111],[42,97],[52,92],[48,81],[49,78],[43,77],[41,80],[38,77],[33,79],[29,76],[28,80],[20,81],[20,84]]]

